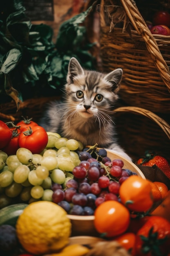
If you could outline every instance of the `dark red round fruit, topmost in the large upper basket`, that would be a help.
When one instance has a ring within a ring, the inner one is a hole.
[[[168,11],[157,11],[153,16],[153,25],[170,26],[170,13]]]

